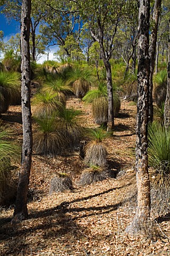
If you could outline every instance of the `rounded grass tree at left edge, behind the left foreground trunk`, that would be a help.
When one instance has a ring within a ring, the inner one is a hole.
[[[21,82],[19,73],[0,71],[0,114],[20,97]]]

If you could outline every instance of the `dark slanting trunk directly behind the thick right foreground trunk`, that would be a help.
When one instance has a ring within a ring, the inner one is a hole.
[[[152,22],[154,23],[150,36],[150,47],[149,47],[149,56],[150,56],[150,75],[149,75],[149,118],[148,122],[153,121],[153,100],[152,100],[152,91],[153,91],[153,75],[154,75],[154,66],[155,66],[155,52],[156,52],[156,42],[158,34],[158,23],[159,23],[159,13],[162,0],[155,0],[154,12],[152,17]]]

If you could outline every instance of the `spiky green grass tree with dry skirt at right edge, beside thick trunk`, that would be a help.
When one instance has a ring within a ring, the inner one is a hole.
[[[169,211],[170,202],[170,131],[159,123],[148,130],[151,202],[159,214]]]

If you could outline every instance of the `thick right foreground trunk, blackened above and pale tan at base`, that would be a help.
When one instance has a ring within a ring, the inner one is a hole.
[[[135,234],[142,223],[150,217],[150,184],[148,174],[148,94],[149,94],[149,16],[150,0],[140,0],[139,42],[138,42],[138,103],[137,103],[137,142],[136,173],[138,187],[138,206],[135,217],[126,231]]]

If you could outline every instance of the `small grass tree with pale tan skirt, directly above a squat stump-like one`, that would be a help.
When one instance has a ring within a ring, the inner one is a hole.
[[[108,133],[101,128],[90,129],[87,133],[88,142],[84,147],[84,162],[88,165],[106,166],[107,165],[107,148],[104,139]]]

